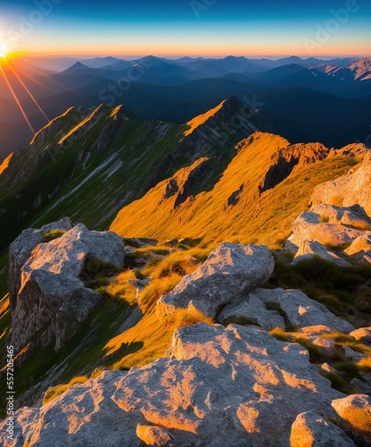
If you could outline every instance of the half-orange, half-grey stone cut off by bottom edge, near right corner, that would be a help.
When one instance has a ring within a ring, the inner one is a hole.
[[[296,417],[293,423],[291,447],[355,447],[356,444],[332,422],[308,411]]]

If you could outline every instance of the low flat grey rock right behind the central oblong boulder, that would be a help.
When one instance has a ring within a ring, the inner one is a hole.
[[[301,328],[323,325],[326,329],[344,333],[354,330],[350,323],[334,316],[323,304],[309,299],[302,291],[284,289],[251,291],[243,298],[227,304],[218,315],[218,321],[225,323],[229,318],[245,317],[255,320],[266,329],[276,326],[284,328],[284,318],[279,311],[287,318],[288,323]]]

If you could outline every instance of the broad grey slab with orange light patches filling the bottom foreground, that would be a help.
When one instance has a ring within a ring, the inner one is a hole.
[[[299,414],[334,416],[343,397],[308,351],[257,327],[188,326],[169,358],[107,371],[41,409],[20,409],[4,447],[189,445],[287,447]],[[346,445],[346,444],[345,444]]]

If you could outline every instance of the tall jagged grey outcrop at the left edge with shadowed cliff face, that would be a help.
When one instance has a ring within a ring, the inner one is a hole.
[[[95,274],[101,263],[123,266],[122,238],[113,232],[90,232],[82,223],[62,237],[40,243],[43,232],[69,227],[64,219],[27,230],[12,243],[9,284],[16,352],[31,339],[33,347],[53,342],[54,350],[60,350],[102,299],[85,287],[79,274],[84,268]]]

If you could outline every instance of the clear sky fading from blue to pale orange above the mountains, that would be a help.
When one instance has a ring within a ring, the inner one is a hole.
[[[50,55],[368,56],[370,25],[371,0],[0,0],[0,50]]]

